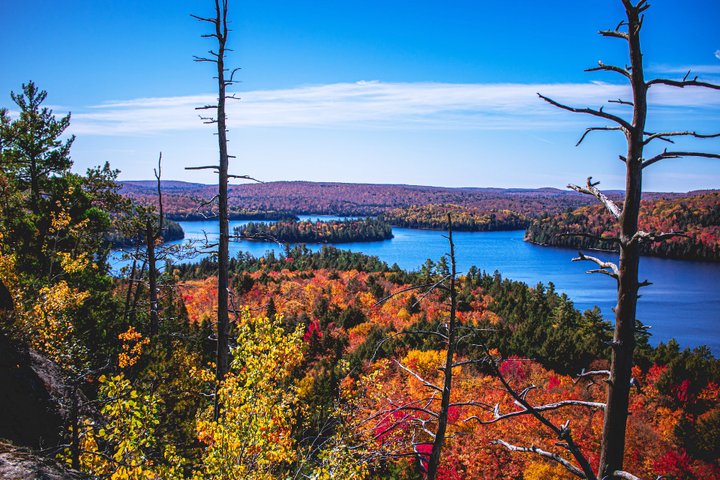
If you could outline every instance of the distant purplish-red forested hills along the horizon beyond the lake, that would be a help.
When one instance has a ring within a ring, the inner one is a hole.
[[[122,192],[133,200],[155,201],[154,181],[122,182]],[[165,212],[169,218],[185,220],[211,214],[198,208],[212,199],[217,186],[177,181],[163,182]],[[609,192],[617,197],[617,192]],[[646,199],[674,198],[678,194],[647,194]],[[261,215],[329,214],[379,215],[393,208],[455,204],[490,212],[509,210],[521,215],[559,213],[590,205],[593,199],[555,188],[447,188],[416,185],[357,183],[270,182],[230,187],[230,210],[234,218],[267,219]]]

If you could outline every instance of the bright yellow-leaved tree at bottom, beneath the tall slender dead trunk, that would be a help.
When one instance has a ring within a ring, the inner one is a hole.
[[[231,373],[217,392],[221,418],[215,422],[207,411],[197,423],[207,445],[202,478],[270,479],[289,472],[296,458],[291,374],[303,358],[303,331],[286,335],[281,322],[248,310],[241,315]]]

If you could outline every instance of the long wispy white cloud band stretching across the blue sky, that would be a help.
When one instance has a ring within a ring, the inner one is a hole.
[[[607,83],[448,84],[362,81],[242,92],[229,100],[230,127],[536,129],[575,123],[537,97],[537,92],[581,107],[599,107],[609,99],[628,99],[629,88]],[[660,107],[720,112],[720,94],[704,89],[653,88]],[[138,98],[75,109],[74,133],[85,135],[152,134],[206,127],[195,107],[215,96]],[[625,107],[614,107],[617,111]],[[618,110],[619,109],[619,110]],[[611,111],[611,107],[606,110]],[[580,119],[587,122],[587,119]]]

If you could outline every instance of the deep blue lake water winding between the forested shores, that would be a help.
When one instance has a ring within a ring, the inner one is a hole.
[[[303,219],[331,219],[337,217],[304,216]],[[245,224],[230,222],[230,228]],[[180,222],[186,240],[217,239],[217,220]],[[523,231],[456,232],[455,251],[458,270],[465,272],[471,265],[503,277],[523,281],[529,285],[553,282],[556,290],[566,293],[581,310],[598,305],[604,316],[612,319],[616,301],[615,281],[605,275],[587,275],[593,265],[571,262],[577,252],[554,247],[540,247],[523,241]],[[382,242],[345,243],[339,248],[375,255],[392,265],[417,270],[426,259],[439,259],[448,252],[444,232],[393,228],[395,238]],[[180,242],[173,242],[180,243]],[[310,245],[318,250],[320,245]],[[262,256],[268,250],[280,250],[277,244],[234,241],[230,254],[249,252]],[[617,261],[617,255],[595,253],[606,260]],[[115,254],[115,258],[118,256]],[[123,262],[116,260],[115,265]],[[641,290],[638,318],[651,327],[652,344],[676,338],[682,347],[707,345],[714,355],[720,355],[720,264],[666,260],[643,257],[640,280],[653,285]]]

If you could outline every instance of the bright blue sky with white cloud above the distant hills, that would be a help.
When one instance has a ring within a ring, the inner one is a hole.
[[[720,3],[653,1],[643,28],[648,76],[684,70],[720,81]],[[189,13],[208,0],[0,1],[0,105],[34,80],[57,113],[71,111],[78,170],[104,161],[122,179],[212,183],[183,167],[216,155],[194,107],[211,101],[210,43]],[[616,75],[625,45],[597,30],[622,18],[619,0],[569,2],[233,1],[232,62],[242,67],[230,110],[231,170],[262,180],[563,187],[592,175],[623,186],[624,141],[591,118],[560,112],[626,98]],[[720,92],[658,88],[650,127],[720,131]],[[615,109],[622,112],[623,110]],[[687,148],[720,152],[720,140]],[[720,186],[717,160],[667,160],[646,189]]]

